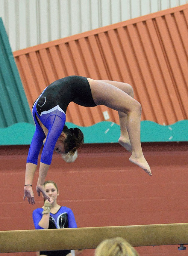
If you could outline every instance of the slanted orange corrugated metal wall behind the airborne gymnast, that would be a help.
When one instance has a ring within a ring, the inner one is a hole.
[[[130,83],[142,120],[188,119],[188,4],[14,52],[29,105],[54,80],[70,75]],[[119,124],[116,111],[71,103],[67,122]],[[84,115],[83,115],[84,113]]]

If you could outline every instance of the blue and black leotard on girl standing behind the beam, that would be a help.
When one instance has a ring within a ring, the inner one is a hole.
[[[35,229],[43,229],[39,226],[39,222],[43,217],[43,208],[37,208],[33,211],[33,221]],[[75,221],[74,214],[72,210],[68,207],[61,206],[57,213],[50,213],[49,219],[49,227],[48,229],[53,228],[77,228],[77,224]],[[67,255],[70,253],[70,250],[63,251],[40,251],[40,255],[48,255],[48,256],[58,256],[58,255]]]

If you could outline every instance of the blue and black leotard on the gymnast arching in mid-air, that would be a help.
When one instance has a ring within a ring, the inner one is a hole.
[[[63,131],[66,121],[66,109],[71,101],[81,106],[96,106],[87,78],[68,76],[59,79],[46,87],[34,102],[32,113],[36,130],[29,149],[27,162],[37,165],[39,152],[43,145],[43,140],[46,138],[40,161],[47,165],[51,164],[55,143]],[[48,129],[47,137],[37,118]]]

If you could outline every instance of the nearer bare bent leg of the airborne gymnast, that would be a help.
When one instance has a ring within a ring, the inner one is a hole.
[[[107,83],[102,80],[93,80],[88,78],[88,82],[90,84],[91,93],[96,105],[105,105],[111,109],[117,110],[120,113],[122,128],[121,132],[125,132],[126,134],[126,126],[131,143],[132,155],[129,160],[134,164],[139,165],[149,175],[152,175],[148,162],[145,160],[142,153],[140,143],[140,122],[142,112],[140,103],[137,100],[134,100],[134,98],[125,91],[118,88],[118,86],[112,85],[112,81],[107,81]],[[111,84],[109,82],[111,82]],[[123,114],[121,116],[121,113],[124,113],[127,115],[127,117]],[[123,134],[123,137],[124,136],[126,135]],[[128,143],[125,144],[127,147]]]

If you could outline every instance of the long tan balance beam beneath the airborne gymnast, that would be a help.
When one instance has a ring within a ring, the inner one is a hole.
[[[133,246],[188,244],[188,223],[0,231],[0,252],[94,249],[117,236]]]

